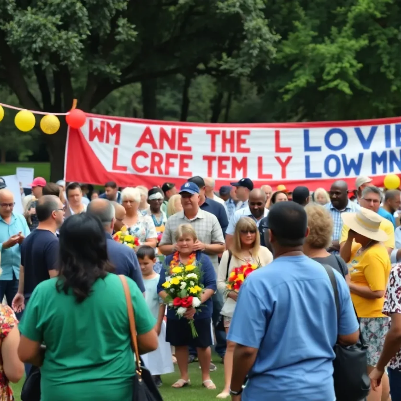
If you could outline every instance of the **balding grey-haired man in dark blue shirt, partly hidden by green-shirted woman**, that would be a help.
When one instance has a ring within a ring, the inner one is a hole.
[[[127,245],[114,241],[111,236],[115,225],[115,210],[113,204],[107,199],[93,199],[93,201],[89,202],[86,213],[96,216],[103,225],[106,233],[107,256],[115,266],[114,273],[130,277],[144,293],[144,281],[135,251]]]

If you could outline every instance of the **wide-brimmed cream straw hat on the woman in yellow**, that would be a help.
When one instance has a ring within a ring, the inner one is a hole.
[[[357,213],[341,213],[341,218],[352,231],[364,237],[373,239],[373,241],[388,239],[388,235],[379,228],[383,217],[369,209],[361,207]]]

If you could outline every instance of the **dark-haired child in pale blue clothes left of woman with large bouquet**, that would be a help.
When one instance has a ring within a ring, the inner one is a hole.
[[[159,336],[157,350],[142,355],[142,360],[152,374],[156,385],[160,387],[163,384],[160,375],[174,372],[170,343],[166,342],[166,323],[164,322],[166,305],[162,303],[157,294],[160,275],[153,270],[156,263],[154,248],[142,245],[138,249],[136,256],[144,279],[146,303],[153,316],[157,319],[156,331]]]

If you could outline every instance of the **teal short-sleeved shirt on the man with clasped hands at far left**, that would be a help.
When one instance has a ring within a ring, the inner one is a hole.
[[[3,242],[19,232],[21,232],[25,237],[30,233],[28,224],[23,215],[13,212],[10,224],[7,224],[0,216],[0,252],[1,267],[3,269],[1,275],[2,280],[12,280],[13,271],[17,279],[20,278],[20,245],[16,244],[11,248],[3,249]]]

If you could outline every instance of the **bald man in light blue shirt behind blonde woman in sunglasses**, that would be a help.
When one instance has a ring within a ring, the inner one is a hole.
[[[265,208],[266,205],[266,194],[261,189],[253,189],[249,192],[248,206],[244,209],[237,210],[231,220],[229,221],[226,230],[226,248],[229,249],[233,242],[233,235],[235,232],[235,226],[241,217],[250,217],[255,221],[257,227],[259,227],[261,219],[266,217],[269,211]]]

